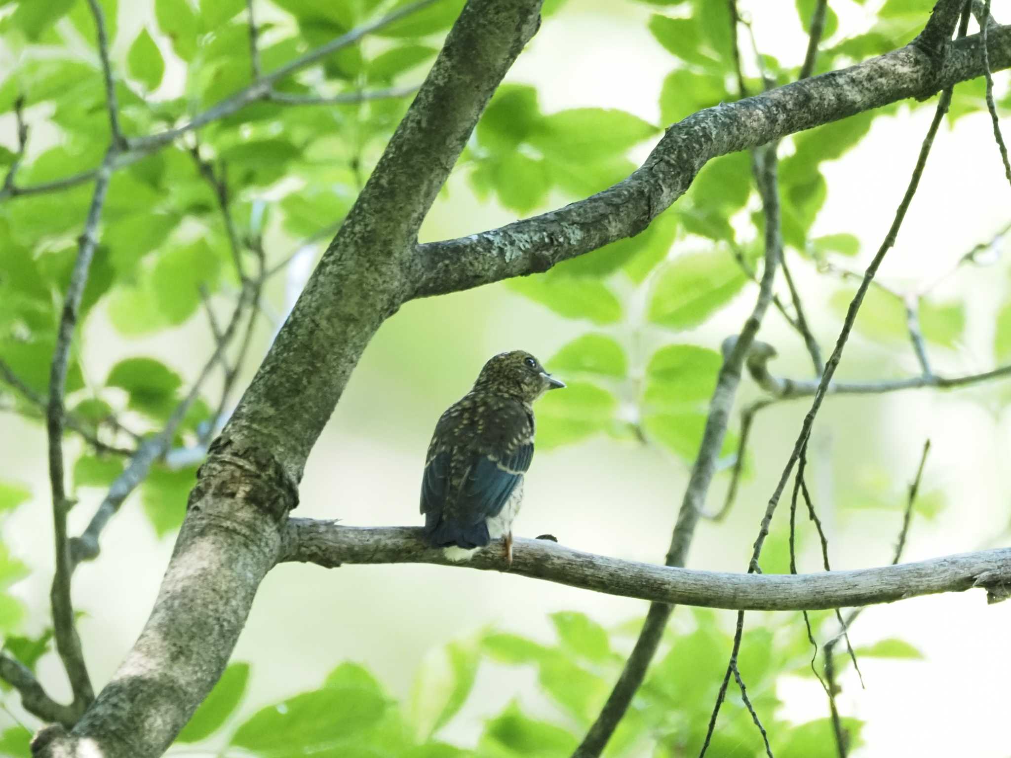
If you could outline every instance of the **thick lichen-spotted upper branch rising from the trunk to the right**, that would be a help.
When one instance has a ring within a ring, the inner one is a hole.
[[[992,71],[1011,66],[1011,26],[989,33]],[[983,76],[979,34],[948,43],[940,66],[915,44],[841,71],[699,111],[667,129],[646,163],[592,197],[497,229],[418,250],[417,297],[547,271],[634,236],[688,188],[711,159],[764,145]]]

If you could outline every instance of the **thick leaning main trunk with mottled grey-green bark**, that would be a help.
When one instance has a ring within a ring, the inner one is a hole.
[[[305,459],[362,351],[403,301],[418,228],[492,92],[539,25],[540,0],[470,0],[208,451],[154,610],[68,735],[36,758],[161,753],[220,676],[276,563]],[[325,54],[324,54],[325,55]],[[321,56],[320,56],[321,57]],[[280,78],[291,66],[269,75]],[[165,132],[159,140],[175,138]]]

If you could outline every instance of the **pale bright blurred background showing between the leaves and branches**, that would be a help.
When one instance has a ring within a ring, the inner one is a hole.
[[[264,22],[283,26],[283,12],[263,5]],[[868,27],[880,5],[832,2],[838,17],[833,39]],[[742,2],[741,8],[758,48],[773,55],[782,71],[800,65],[807,35],[793,2]],[[636,2],[570,0],[545,20],[505,81],[536,87],[544,113],[617,108],[649,124],[664,125],[658,93],[677,62],[650,31],[656,12],[684,14],[683,8]],[[917,23],[922,24],[924,18],[921,14]],[[126,58],[142,26],[154,29],[153,8],[146,2],[121,3],[114,65]],[[915,29],[912,22],[909,28]],[[907,34],[900,43],[911,36]],[[741,40],[746,38],[742,33]],[[170,54],[164,35],[155,39],[164,53],[166,72],[152,97],[177,96],[185,87],[186,67]],[[746,50],[744,57],[748,58]],[[750,63],[746,69],[754,76]],[[420,81],[423,72],[416,71],[405,80]],[[996,80],[1000,98],[1006,92],[1007,77],[998,74]],[[999,238],[978,257],[977,263],[985,265],[957,267],[974,246],[989,244],[1011,220],[1011,187],[1003,176],[980,92],[975,88],[959,101],[956,90],[955,102],[966,103],[966,113],[942,125],[898,243],[879,276],[901,292],[914,292],[940,279],[931,296],[939,303],[956,304],[957,315],[951,320],[957,327],[930,342],[928,348],[934,370],[945,376],[987,371],[997,365],[1002,357],[998,314],[1011,284],[1008,246]],[[810,235],[855,238],[858,250],[840,266],[862,271],[884,239],[932,111],[933,101],[922,106],[900,104],[875,119],[866,135],[841,160],[821,165],[827,197]],[[14,150],[10,113],[0,120],[0,134],[4,145]],[[628,157],[641,162],[656,138],[640,143]],[[33,130],[31,148],[41,150],[59,139],[58,129],[47,131],[39,126]],[[793,150],[785,143],[783,154]],[[735,181],[750,185],[746,163],[739,165],[745,171],[738,172]],[[273,191],[276,197],[283,194]],[[259,197],[268,204],[272,201],[270,191]],[[572,199],[556,187],[519,215]],[[750,203],[749,209],[758,207],[753,195]],[[459,170],[428,217],[422,241],[465,235],[517,217],[518,212],[495,193],[481,199],[468,172]],[[750,225],[748,211],[738,213],[733,224],[741,230],[741,239],[761,239]],[[268,256],[279,261],[299,242],[290,229],[271,227],[266,239]],[[708,253],[718,245],[682,230],[670,256]],[[268,285],[265,299],[273,320],[259,322],[240,388],[268,349],[274,323],[290,306],[292,293],[321,252],[319,247],[297,256]],[[837,274],[820,272],[811,259],[790,255],[813,331],[827,355],[852,284]],[[567,343],[592,329],[626,346],[632,355],[630,375],[641,375],[645,360],[637,358],[631,346],[678,343],[719,350],[724,338],[739,330],[757,292],[756,286],[747,283],[703,323],[674,333],[647,323],[641,305],[631,305],[641,289],[628,280],[612,281],[610,286],[627,307],[620,318],[594,326],[585,319],[565,317],[505,283],[406,304],[365,352],[309,459],[301,483],[301,504],[294,515],[339,518],[355,526],[421,524],[419,486],[432,430],[443,409],[467,391],[488,357],[522,348],[548,361]],[[786,292],[782,283],[777,291]],[[224,303],[227,296],[225,287],[214,302]],[[889,308],[894,303],[886,299],[882,294],[868,300],[837,377],[872,381],[918,373],[901,311],[899,325],[893,328],[894,307]],[[875,310],[872,303],[885,304]],[[143,355],[171,366],[188,386],[213,348],[199,313],[150,335],[124,336],[113,320],[108,305],[100,304],[86,322],[83,343],[87,345],[86,372],[91,377],[105,376],[123,358]],[[769,312],[759,339],[778,353],[770,364],[773,373],[810,377],[804,346],[779,314]],[[932,450],[904,559],[1011,545],[1006,475],[1008,386],[1006,380],[999,380],[952,391],[920,389],[826,401],[811,441],[809,482],[826,525],[833,568],[891,561],[906,488],[927,439]],[[738,409],[760,396],[761,390],[745,378]],[[618,415],[634,420],[635,409],[627,404],[619,395]],[[700,525],[691,552],[692,567],[746,569],[761,512],[808,407],[805,399],[783,402],[757,416],[747,475],[736,505],[725,523]],[[735,411],[731,432],[738,430]],[[79,441],[68,440],[69,451],[79,447]],[[26,485],[32,492],[30,501],[3,524],[10,552],[30,569],[9,590],[26,607],[23,633],[28,635],[39,633],[49,622],[53,546],[44,449],[39,424],[13,414],[0,415],[0,477]],[[688,466],[690,461],[663,445],[643,444],[632,435],[609,434],[606,429],[590,430],[570,444],[539,447],[516,532],[524,537],[551,533],[580,550],[659,562],[667,549]],[[724,470],[710,493],[711,508],[722,503],[728,481]],[[71,513],[72,533],[86,526],[102,494],[98,487],[79,489],[80,503]],[[770,560],[782,561],[785,556],[788,504],[782,504],[773,524]],[[179,501],[178,506],[182,505]],[[806,517],[799,523],[801,570],[818,571],[817,538]],[[145,623],[172,550],[173,534],[170,530],[160,536],[140,496],[133,495],[105,531],[101,557],[77,572],[74,599],[84,612],[79,629],[96,683],[112,674]],[[777,570],[786,570],[785,564]],[[393,696],[405,698],[420,670],[444,665],[439,655],[447,642],[470,639],[493,627],[550,643],[549,614],[559,610],[581,611],[610,629],[642,617],[645,603],[466,568],[345,566],[326,571],[283,565],[263,583],[235,653],[235,660],[252,666],[238,718],[317,686],[327,672],[349,660],[367,666]],[[733,615],[718,611],[716,619],[730,629]],[[674,628],[691,628],[692,619],[690,609],[678,609]],[[783,619],[753,613],[747,623],[760,627],[783,624]],[[863,746],[853,755],[1011,755],[1005,691],[1011,677],[1008,629],[1011,603],[988,606],[979,591],[868,608],[851,632],[854,646],[901,638],[922,657],[863,658],[863,688],[851,668],[842,674],[841,710],[866,722]],[[616,647],[624,653],[632,639],[620,638]],[[474,692],[441,737],[463,747],[473,745],[484,720],[514,698],[538,718],[564,720],[538,685],[536,673],[530,668],[482,664]],[[55,655],[39,661],[38,675],[55,696],[68,697]],[[786,674],[779,678],[777,692],[783,700],[777,712],[780,719],[802,723],[827,715],[824,693],[810,676]],[[16,698],[8,696],[7,702],[15,707]],[[30,717],[21,718],[31,723]],[[0,714],[0,722],[5,719]],[[579,729],[573,731],[579,733]]]

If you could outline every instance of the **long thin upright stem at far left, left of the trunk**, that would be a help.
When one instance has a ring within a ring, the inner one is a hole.
[[[115,156],[115,147],[106,154],[95,180],[95,191],[88,209],[88,217],[81,233],[77,259],[71,271],[70,283],[64,298],[63,313],[57,333],[56,347],[53,351],[53,364],[50,370],[50,396],[47,406],[47,432],[49,436],[50,484],[53,490],[53,523],[56,542],[56,573],[53,577],[53,589],[50,593],[53,604],[54,637],[57,652],[63,661],[67,676],[70,678],[74,692],[73,707],[78,713],[84,709],[95,698],[91,686],[91,678],[81,650],[81,640],[75,628],[74,605],[71,601],[70,577],[72,561],[67,538],[67,513],[72,505],[64,488],[64,456],[63,431],[64,392],[67,382],[67,371],[70,364],[70,348],[77,325],[78,309],[88,282],[88,271],[91,259],[98,244],[98,222],[105,204],[105,196],[111,176],[110,162]]]

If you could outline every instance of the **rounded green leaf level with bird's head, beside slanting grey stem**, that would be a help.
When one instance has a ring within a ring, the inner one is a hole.
[[[698,406],[716,389],[723,360],[720,354],[697,345],[667,345],[656,351],[646,367],[643,402],[649,407]]]

